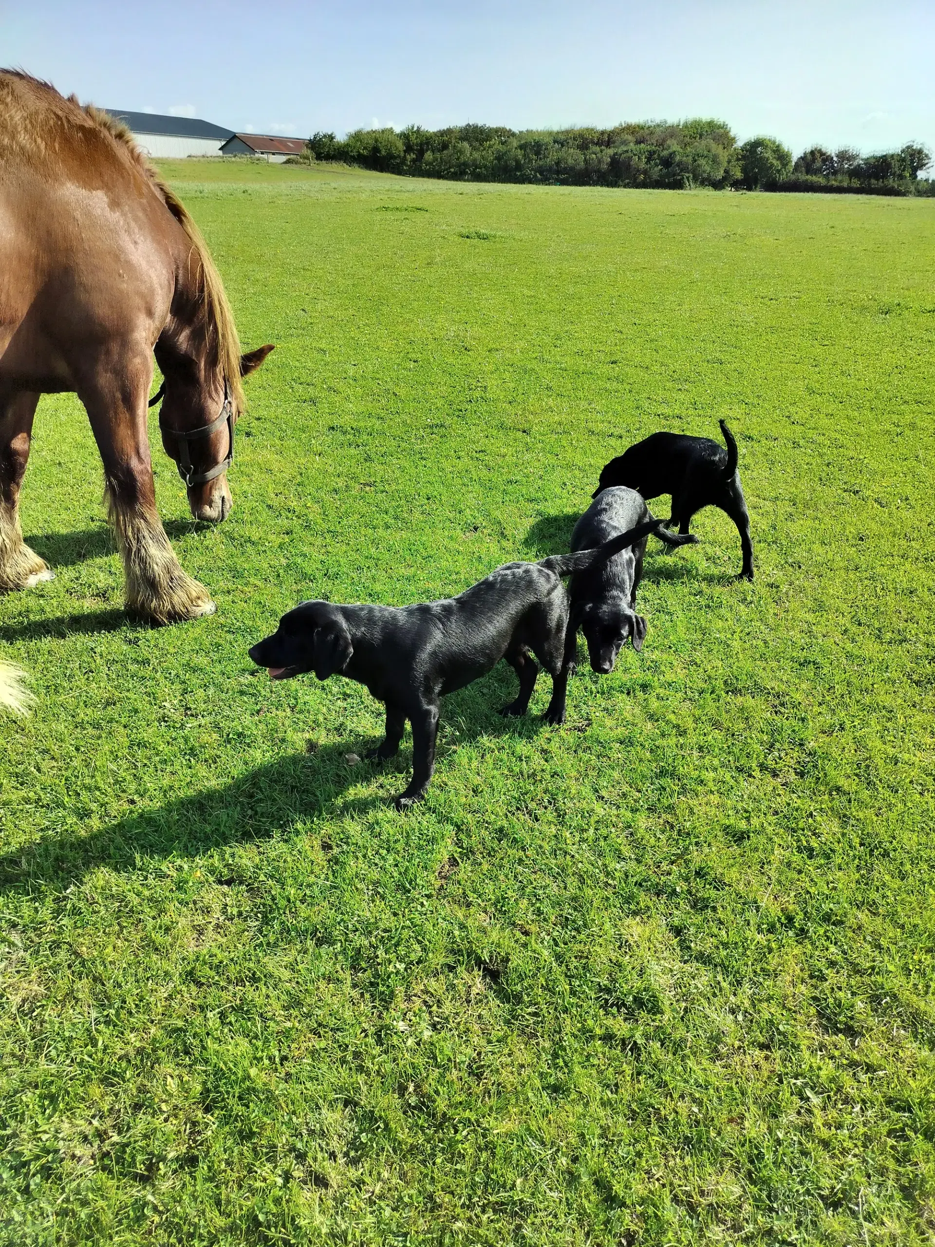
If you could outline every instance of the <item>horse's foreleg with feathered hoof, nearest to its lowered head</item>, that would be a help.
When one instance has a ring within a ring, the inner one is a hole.
[[[141,370],[137,384],[125,382],[117,393],[90,388],[81,398],[103,460],[107,514],[123,560],[127,607],[167,624],[211,615],[214,604],[207,589],[182,571],[156,510],[146,431],[148,380]]]

